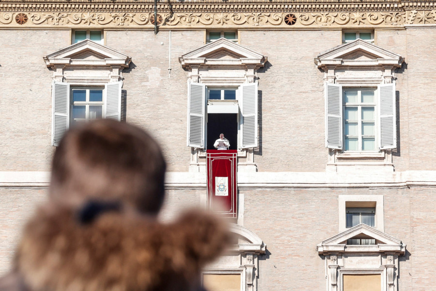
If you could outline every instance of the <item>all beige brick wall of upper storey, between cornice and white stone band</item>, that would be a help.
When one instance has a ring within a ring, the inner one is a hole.
[[[396,171],[434,169],[432,128],[434,75],[427,61],[433,52],[432,29],[377,30],[376,44],[405,58],[397,70],[399,152]],[[268,57],[260,69],[259,171],[325,171],[323,72],[313,58],[341,43],[339,30],[240,31],[240,44]],[[423,35],[429,36],[423,36]],[[124,74],[127,121],[150,131],[162,145],[169,171],[187,171],[187,71],[178,57],[203,45],[204,31],[107,31],[106,44],[130,57]],[[265,41],[267,39],[268,41]],[[322,39],[322,42],[317,40]],[[0,169],[49,169],[51,75],[43,56],[70,44],[67,30],[0,30],[2,93]],[[280,45],[271,45],[280,44]],[[35,50],[34,48],[38,48]],[[23,73],[25,81],[23,82]],[[410,79],[410,80],[409,80]],[[428,110],[422,111],[422,106]],[[419,118],[415,117],[419,116]],[[425,134],[422,134],[425,132]],[[436,137],[436,136],[435,136]],[[424,153],[424,154],[422,154]],[[409,156],[410,154],[410,156]],[[422,167],[420,167],[422,166]]]

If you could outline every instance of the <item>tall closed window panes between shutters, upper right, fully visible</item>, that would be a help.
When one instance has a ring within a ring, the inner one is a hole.
[[[374,89],[343,90],[344,151],[376,151]]]

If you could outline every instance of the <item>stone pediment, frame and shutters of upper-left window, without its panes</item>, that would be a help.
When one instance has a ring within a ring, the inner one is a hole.
[[[48,54],[44,61],[53,71],[52,146],[59,145],[71,123],[70,86],[104,87],[102,115],[125,118],[121,104],[122,71],[129,66],[130,57],[86,39]]]

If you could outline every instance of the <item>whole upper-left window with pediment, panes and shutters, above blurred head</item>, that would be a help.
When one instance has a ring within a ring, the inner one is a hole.
[[[52,145],[65,131],[95,118],[122,119],[122,70],[130,58],[86,39],[44,57],[53,69]]]

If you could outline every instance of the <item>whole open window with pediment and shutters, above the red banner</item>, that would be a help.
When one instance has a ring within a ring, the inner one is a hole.
[[[198,167],[205,149],[220,133],[240,154],[258,146],[258,84],[256,71],[266,57],[225,38],[179,58],[189,70],[187,146],[191,165]],[[252,157],[247,159],[248,163]],[[204,161],[205,165],[205,161]],[[197,171],[196,170],[196,171]]]

